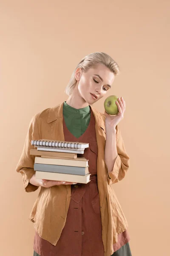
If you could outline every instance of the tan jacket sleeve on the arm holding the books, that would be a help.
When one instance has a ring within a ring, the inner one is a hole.
[[[23,186],[26,192],[33,192],[39,188],[39,186],[34,186],[31,183],[29,183],[29,180],[31,179],[32,175],[34,175],[34,160],[35,156],[30,155],[30,149],[34,149],[34,146],[31,145],[31,140],[39,140],[39,132],[37,128],[36,123],[36,115],[32,117],[27,135],[26,140],[23,146],[23,151],[20,157],[20,160],[17,164],[16,171],[20,172],[23,179]]]

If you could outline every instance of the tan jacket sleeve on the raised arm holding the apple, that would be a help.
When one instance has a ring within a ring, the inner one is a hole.
[[[112,171],[108,173],[108,185],[122,180],[129,169],[129,156],[125,149],[119,125],[116,125],[116,130],[116,148],[118,154]]]

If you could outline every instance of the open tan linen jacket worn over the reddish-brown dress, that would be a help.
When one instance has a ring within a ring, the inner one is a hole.
[[[29,183],[34,171],[33,155],[29,154],[31,140],[64,140],[63,133],[63,104],[54,108],[47,108],[32,117],[26,141],[16,171],[20,172],[23,178],[23,185],[26,192],[33,192],[38,189]],[[122,180],[129,169],[129,156],[126,153],[125,145],[121,136],[119,125],[116,125],[116,147],[117,158],[112,172],[108,174],[105,164],[105,115],[95,110],[90,105],[95,117],[96,139],[98,146],[97,156],[97,182],[99,189],[100,211],[102,218],[102,241],[105,256],[113,254],[113,243],[117,242],[118,234],[127,229],[127,220],[118,199],[113,190],[113,184]],[[37,233],[56,245],[65,226],[68,207],[71,200],[71,185],[52,186],[50,188],[40,187],[40,192],[31,210],[29,219],[34,223]]]

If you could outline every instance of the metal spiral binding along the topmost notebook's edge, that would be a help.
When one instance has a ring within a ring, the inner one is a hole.
[[[45,142],[45,145],[43,145],[43,143]],[[47,143],[47,144],[46,144]],[[51,143],[51,146],[50,146]],[[59,146],[60,143],[60,146]],[[62,146],[63,143],[63,146]],[[53,145],[54,144],[54,145]],[[70,144],[70,146],[68,146],[68,144]],[[54,142],[54,141],[48,141],[48,140],[32,140],[31,145],[34,146],[42,146],[42,147],[51,147],[51,148],[71,148],[71,144],[74,145],[74,149],[78,148],[79,143],[66,143],[63,141],[58,141],[58,142]],[[65,146],[66,145],[66,146]]]

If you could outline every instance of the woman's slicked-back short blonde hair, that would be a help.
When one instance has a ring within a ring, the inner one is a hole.
[[[79,62],[77,67],[75,68],[74,72],[72,73],[71,79],[68,82],[65,93],[70,96],[74,90],[74,87],[77,84],[77,80],[75,78],[75,72],[77,68],[81,68],[83,71],[87,71],[89,68],[96,66],[97,64],[103,64],[105,67],[108,67],[111,72],[115,75],[119,75],[120,69],[116,61],[113,60],[108,54],[104,52],[94,52],[86,55],[82,60]]]

